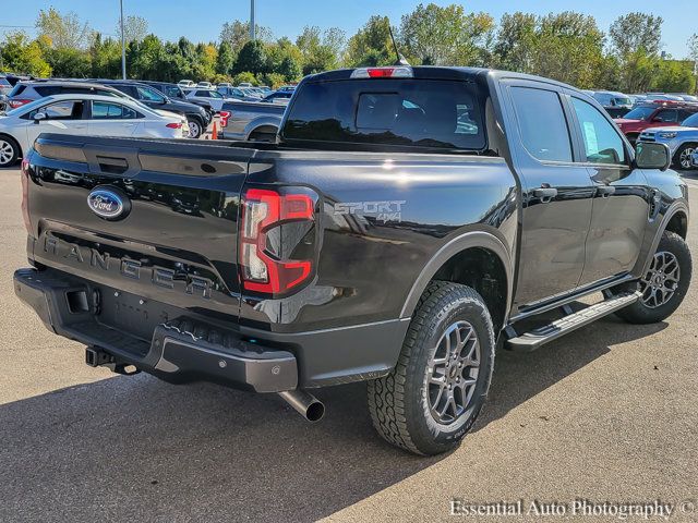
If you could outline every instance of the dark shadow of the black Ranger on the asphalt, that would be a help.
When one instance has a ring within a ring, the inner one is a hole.
[[[665,326],[606,319],[532,354],[501,351],[476,429]],[[273,396],[145,375],[0,405],[0,520],[312,521],[457,459],[384,443],[364,392],[321,390],[328,410],[315,425]]]

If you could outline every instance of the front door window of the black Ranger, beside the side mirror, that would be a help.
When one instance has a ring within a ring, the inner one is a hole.
[[[571,105],[577,113],[579,133],[585,143],[587,161],[592,163],[625,163],[623,139],[597,108],[579,98]]]

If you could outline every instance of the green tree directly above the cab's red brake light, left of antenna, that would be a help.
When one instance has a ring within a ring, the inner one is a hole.
[[[371,16],[347,42],[345,60],[349,66],[388,65],[396,58],[387,16]]]

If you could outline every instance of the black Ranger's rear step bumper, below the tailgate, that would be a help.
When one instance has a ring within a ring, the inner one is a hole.
[[[205,380],[256,392],[298,387],[293,354],[243,341],[233,332],[181,318],[158,325],[146,342],[100,324],[93,304],[87,303],[88,311],[82,308],[84,303],[75,296],[88,289],[80,282],[21,269],[14,273],[14,291],[49,330],[99,348],[118,363],[135,365],[166,381]]]

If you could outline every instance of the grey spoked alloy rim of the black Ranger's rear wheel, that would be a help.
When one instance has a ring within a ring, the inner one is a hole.
[[[480,343],[468,321],[446,329],[429,362],[426,385],[435,422],[449,425],[468,411],[480,370]]]

